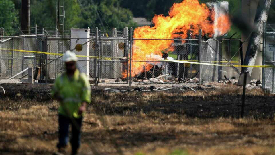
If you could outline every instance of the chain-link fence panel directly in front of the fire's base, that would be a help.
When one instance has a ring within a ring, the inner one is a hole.
[[[144,47],[136,47],[144,44]],[[154,47],[146,44],[159,46],[166,45],[162,51],[156,51]],[[142,51],[140,51],[142,50]],[[169,74],[170,79],[184,82],[197,77],[199,65],[181,63],[180,61],[199,61],[198,39],[137,39],[133,40],[133,78],[148,80],[161,75]],[[141,53],[141,54],[138,54]],[[166,60],[166,62],[164,61]],[[172,62],[178,60],[178,62]],[[167,77],[164,77],[167,79]]]

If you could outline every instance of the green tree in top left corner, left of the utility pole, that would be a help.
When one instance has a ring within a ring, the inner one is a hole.
[[[14,3],[10,0],[0,0],[0,4],[0,27],[10,29],[18,26]]]

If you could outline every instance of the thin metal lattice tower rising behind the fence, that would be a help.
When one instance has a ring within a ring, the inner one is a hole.
[[[64,25],[65,25],[65,8],[64,8],[65,0],[56,0],[56,36],[64,38]],[[57,51],[58,54],[64,53],[64,40],[57,41]],[[58,60],[57,71],[58,73],[62,73],[64,71],[64,65],[62,60]]]

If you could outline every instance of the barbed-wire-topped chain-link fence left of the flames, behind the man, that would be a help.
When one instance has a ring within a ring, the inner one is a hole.
[[[48,32],[51,31],[44,29],[35,35],[1,36],[0,78],[23,79],[27,73],[27,70],[24,70],[32,67],[35,79],[52,81],[51,79],[65,70],[62,54],[66,50],[72,50],[79,55],[77,67],[80,72],[99,82],[115,82],[117,78],[122,78],[124,71],[129,70],[127,28],[120,31],[113,29],[112,32],[91,30],[87,32],[87,35],[90,35],[87,38],[72,36],[61,38],[57,37],[57,33]],[[82,51],[74,50],[77,44],[82,45]]]

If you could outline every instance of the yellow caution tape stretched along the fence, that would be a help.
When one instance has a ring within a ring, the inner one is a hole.
[[[28,51],[28,50],[19,50],[19,49],[5,49],[0,48],[0,50],[7,50],[7,51],[18,51],[18,52],[28,52],[28,53],[38,53],[38,54],[46,54],[46,55],[58,55],[62,56],[63,54],[60,53],[51,53],[51,52],[41,52],[41,51]],[[85,55],[76,55],[76,57],[89,57],[89,58],[98,58],[103,60],[111,60],[111,59],[125,59],[122,57],[96,57],[96,56],[85,56]],[[156,60],[154,60],[156,61]],[[232,65],[228,64],[227,61],[205,61],[205,62],[211,62],[211,63],[203,63],[199,62],[198,60],[163,60],[163,59],[157,59],[157,61],[162,62],[174,62],[174,63],[187,63],[187,64],[196,64],[196,65],[212,65],[212,66],[224,66],[224,67],[252,67],[252,68],[272,68],[275,67],[274,65]],[[227,63],[225,64],[215,64],[215,63]],[[239,63],[238,61],[230,61],[230,63]]]

